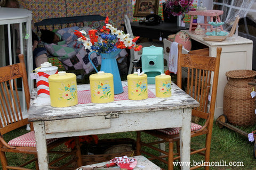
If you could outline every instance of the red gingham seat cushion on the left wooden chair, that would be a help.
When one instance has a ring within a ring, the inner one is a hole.
[[[46,144],[54,142],[55,139],[46,139]],[[20,137],[14,138],[8,142],[8,145],[13,147],[36,147],[35,133],[34,131],[28,132],[21,135]]]

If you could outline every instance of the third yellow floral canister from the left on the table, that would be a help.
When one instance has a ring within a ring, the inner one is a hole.
[[[130,100],[143,100],[148,98],[147,74],[138,75],[138,72],[127,75],[128,98]]]

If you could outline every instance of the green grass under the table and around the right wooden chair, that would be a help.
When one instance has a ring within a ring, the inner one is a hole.
[[[200,122],[203,123],[203,122]],[[250,128],[240,128],[245,132],[251,132],[256,129],[256,125]],[[113,134],[102,134],[99,135],[101,139],[104,138],[132,138],[136,139],[135,132],[125,133],[113,133]],[[141,133],[143,140],[152,141],[158,140],[148,134]],[[204,146],[205,136],[194,137],[191,139],[191,148],[198,148]],[[238,170],[238,169],[256,169],[256,159],[253,157],[254,142],[249,142],[248,138],[238,134],[237,132],[231,131],[227,128],[220,129],[217,125],[213,126],[212,143],[211,143],[211,154],[210,162],[226,163],[229,162],[242,162],[244,166],[210,166],[210,169],[216,170]],[[201,162],[203,156],[198,154],[192,155],[190,161],[193,163]],[[162,168],[166,168],[161,162],[153,160],[155,164]],[[175,167],[174,169],[180,169]],[[199,168],[204,169],[204,168]]]

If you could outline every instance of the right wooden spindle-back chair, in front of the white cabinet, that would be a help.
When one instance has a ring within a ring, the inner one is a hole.
[[[201,154],[204,155],[204,161],[209,162],[210,160],[210,146],[211,146],[211,135],[214,117],[215,100],[217,94],[218,77],[219,77],[219,65],[220,65],[220,54],[221,48],[217,48],[217,57],[193,55],[193,54],[182,54],[182,45],[178,45],[178,72],[177,72],[177,85],[181,88],[181,77],[182,70],[187,70],[187,94],[195,98],[200,106],[193,108],[192,115],[205,119],[203,126],[192,123],[191,124],[191,137],[206,134],[205,146],[201,149],[191,149],[190,154]],[[214,75],[212,75],[214,72]],[[212,81],[211,81],[212,79]],[[211,89],[211,90],[210,90]],[[210,97],[211,91],[211,97]],[[210,100],[210,101],[209,101]],[[209,108],[208,108],[209,107]],[[167,164],[168,170],[173,169],[173,161],[180,159],[179,155],[179,128],[167,128],[159,130],[143,131],[154,137],[159,138],[159,141],[145,143],[141,141],[141,132],[137,132],[137,154],[146,154],[150,156],[149,160],[158,159],[163,163]],[[169,143],[169,152],[165,151],[165,148],[161,150],[158,148],[159,143]],[[173,143],[177,142],[177,153],[174,154]],[[158,152],[161,155],[153,155],[148,151],[142,150],[141,147],[149,147]],[[166,159],[168,158],[168,159]],[[201,166],[191,167],[195,169]],[[209,166],[205,166],[205,169],[209,169]]]

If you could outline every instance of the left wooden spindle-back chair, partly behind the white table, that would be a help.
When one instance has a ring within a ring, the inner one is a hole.
[[[19,60],[20,63],[18,64],[4,66],[0,68],[0,158],[3,170],[28,169],[25,168],[25,166],[33,162],[35,162],[36,169],[39,169],[37,163],[37,151],[33,125],[30,126],[30,132],[21,135],[20,137],[17,137],[15,139],[12,139],[8,143],[4,140],[4,135],[6,135],[6,133],[21,128],[22,126],[25,126],[29,123],[27,118],[27,110],[29,109],[30,94],[23,54],[19,54]],[[26,101],[21,101],[22,97],[19,97],[19,95],[25,95]],[[26,108],[22,108],[22,102],[26,102],[23,103]],[[77,166],[82,166],[82,158],[78,138],[75,138],[77,147],[76,149],[73,149],[71,151],[52,151],[53,148],[61,145],[63,142],[66,142],[68,140],[70,140],[70,138],[47,140],[47,147],[49,153],[61,154],[54,155],[59,157],[57,159],[54,159],[49,164],[49,168],[66,169],[68,165],[73,162],[77,162]],[[6,158],[6,152],[33,154],[35,157],[27,163],[23,163],[18,167],[14,167],[9,165],[10,163],[8,163],[8,160]],[[69,160],[68,156],[71,157],[71,160]],[[59,162],[61,159],[64,158],[67,158],[65,160],[65,165],[61,165],[60,167],[54,167],[56,162]],[[69,169],[74,169],[74,167],[69,167]]]

